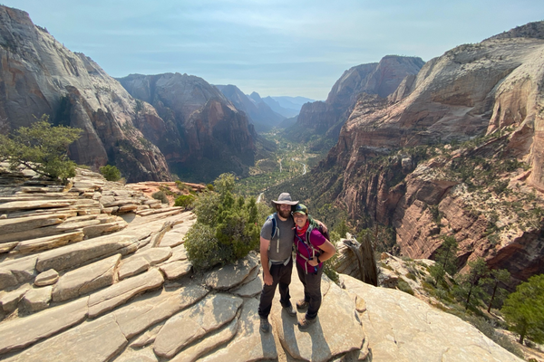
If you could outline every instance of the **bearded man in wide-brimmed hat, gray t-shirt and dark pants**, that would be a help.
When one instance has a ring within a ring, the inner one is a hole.
[[[260,233],[260,254],[263,266],[263,290],[258,305],[260,329],[270,331],[268,315],[272,309],[272,299],[279,285],[279,302],[291,317],[296,317],[296,310],[291,304],[289,284],[293,270],[293,241],[295,239],[295,222],[291,216],[291,206],[298,204],[292,201],[291,195],[282,193],[277,200],[276,213],[268,218]],[[274,219],[274,220],[273,220]]]

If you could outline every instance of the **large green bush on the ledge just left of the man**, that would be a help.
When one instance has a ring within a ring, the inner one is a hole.
[[[214,181],[215,191],[195,200],[197,222],[185,236],[185,247],[196,270],[236,262],[258,248],[269,207],[257,205],[253,196],[236,195],[235,186],[233,175],[222,174]]]

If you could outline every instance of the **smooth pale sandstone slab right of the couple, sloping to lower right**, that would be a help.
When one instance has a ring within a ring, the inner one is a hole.
[[[521,359],[469,323],[413,296],[343,275],[345,287],[366,301],[361,315],[374,362],[511,361]]]

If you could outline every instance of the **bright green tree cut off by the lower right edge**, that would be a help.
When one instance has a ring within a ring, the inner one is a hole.
[[[509,329],[520,334],[520,343],[526,337],[544,342],[544,274],[518,285],[500,311]]]

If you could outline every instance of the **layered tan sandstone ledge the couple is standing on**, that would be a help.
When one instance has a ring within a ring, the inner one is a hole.
[[[195,273],[183,245],[194,214],[84,170],[68,186],[28,171],[0,183],[0,359],[520,360],[461,319],[347,275],[344,289],[324,276],[310,329],[276,300],[263,334],[257,253]],[[296,272],[291,285],[302,298]]]

